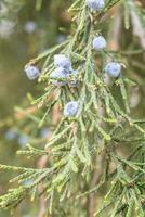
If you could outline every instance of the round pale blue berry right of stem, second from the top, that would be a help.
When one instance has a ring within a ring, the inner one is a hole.
[[[96,51],[102,51],[107,47],[107,42],[103,36],[97,36],[93,40],[93,49]]]

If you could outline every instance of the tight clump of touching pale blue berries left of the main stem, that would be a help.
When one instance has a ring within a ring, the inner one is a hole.
[[[78,72],[71,67],[71,61],[64,54],[54,55],[54,66],[56,67],[50,75],[51,81],[55,86],[65,86],[68,84],[70,87],[76,87],[78,81],[67,81],[70,75],[75,75]]]

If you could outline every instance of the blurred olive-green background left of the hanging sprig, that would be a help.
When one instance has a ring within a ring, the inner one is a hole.
[[[25,165],[15,152],[19,149],[11,130],[14,106],[25,103],[28,92],[35,92],[37,81],[29,81],[24,73],[28,60],[66,39],[70,17],[65,9],[70,1],[0,0],[0,163]],[[60,30],[62,27],[62,30]],[[12,187],[12,173],[0,175],[0,194]],[[27,202],[25,202],[27,203]],[[14,216],[36,217],[37,204],[23,204],[23,212]],[[0,212],[0,217],[9,217]]]

